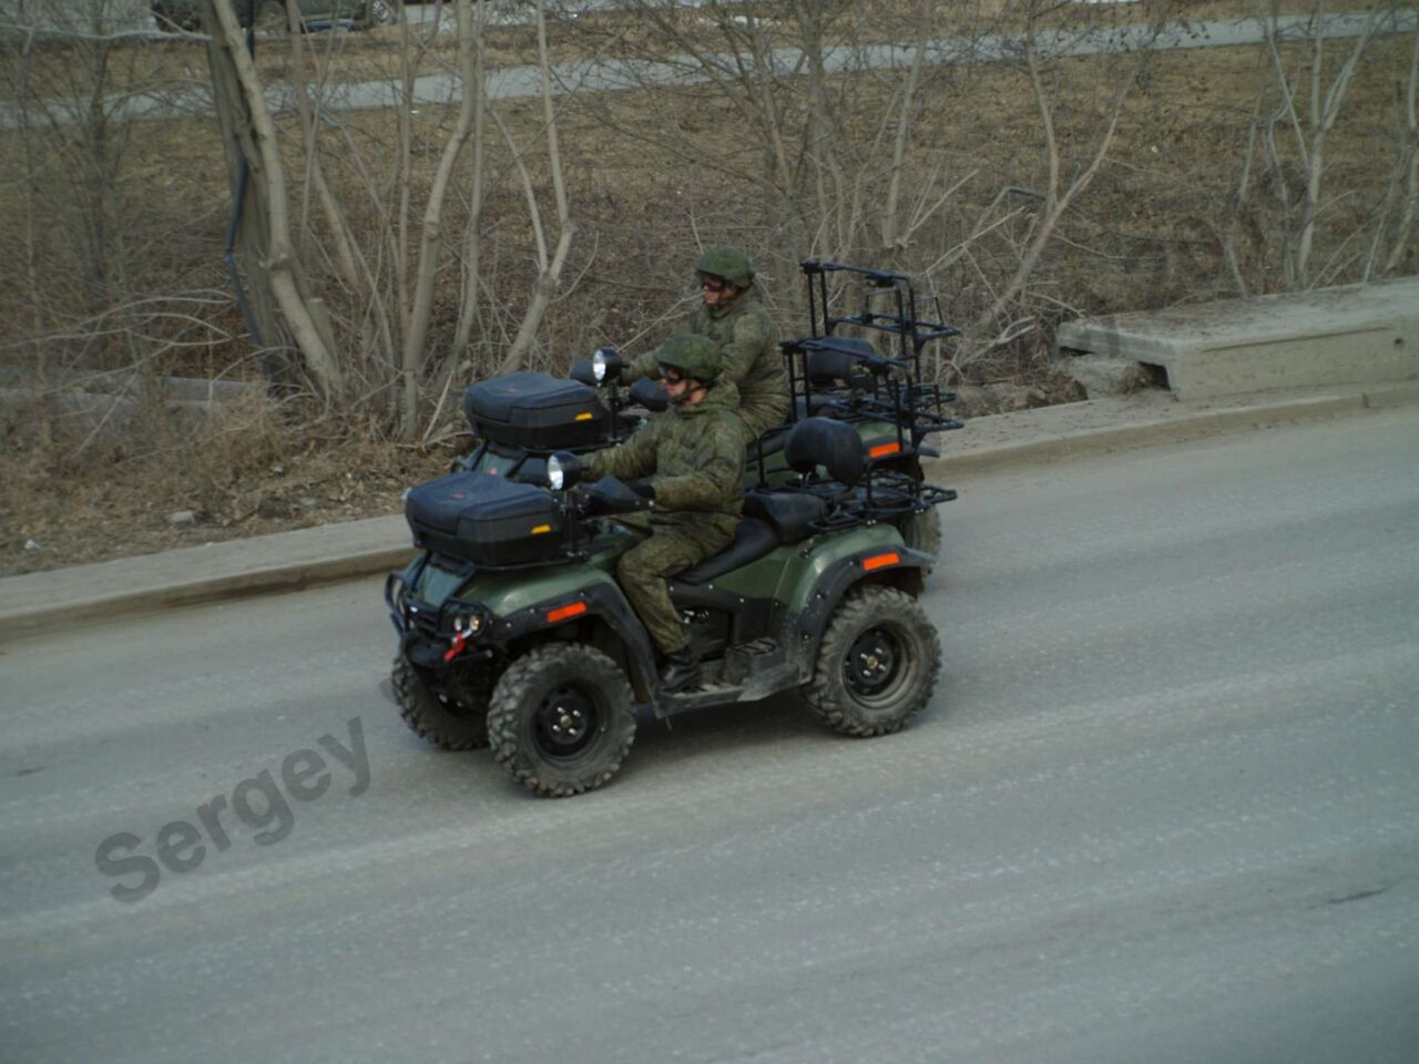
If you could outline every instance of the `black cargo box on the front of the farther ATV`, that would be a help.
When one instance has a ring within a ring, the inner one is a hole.
[[[470,384],[463,411],[481,440],[548,451],[596,443],[607,417],[596,389],[532,372]]]

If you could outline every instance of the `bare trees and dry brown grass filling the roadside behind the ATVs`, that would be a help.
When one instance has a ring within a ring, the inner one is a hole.
[[[471,380],[657,342],[704,244],[749,251],[786,332],[806,257],[911,272],[966,329],[937,372],[976,409],[1078,397],[1050,358],[1069,316],[1419,270],[1419,34],[1379,33],[1405,4],[626,0],[499,26],[457,0],[443,34],[288,34],[251,62],[226,4],[153,41],[105,33],[109,1],[0,38],[4,572],[390,512],[467,445]],[[1338,11],[1374,33],[1155,47]],[[691,82],[661,84],[671,57]],[[589,58],[631,88],[416,94]],[[366,78],[397,105],[321,104]],[[131,119],[152,101],[193,113]],[[170,377],[251,387],[179,401]]]

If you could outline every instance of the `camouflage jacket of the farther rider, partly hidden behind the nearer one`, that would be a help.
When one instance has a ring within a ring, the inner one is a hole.
[[[745,424],[761,433],[789,420],[789,379],[779,352],[779,333],[752,287],[725,306],[697,306],[690,314],[687,331],[719,345],[724,355],[719,379],[739,389],[739,417]],[[623,379],[630,382],[654,376],[658,373],[656,352],[651,350],[634,359]]]

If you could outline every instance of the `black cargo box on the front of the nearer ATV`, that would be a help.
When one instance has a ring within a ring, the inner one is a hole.
[[[566,545],[566,522],[552,495],[488,472],[420,484],[404,501],[404,518],[414,546],[474,565],[541,562]]]

